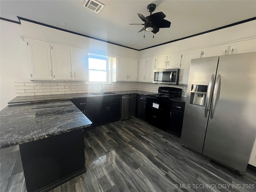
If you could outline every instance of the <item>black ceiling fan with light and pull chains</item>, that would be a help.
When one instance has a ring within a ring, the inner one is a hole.
[[[152,12],[156,9],[155,4],[149,4],[147,8],[148,8],[148,11],[150,12],[149,16],[144,17],[142,14],[138,13],[138,16],[142,21],[144,21],[144,24],[130,24],[130,25],[144,25],[144,27],[138,31],[138,32],[144,31],[144,37],[145,37],[145,31],[151,31],[152,33],[156,34],[159,31],[159,28],[169,28],[171,26],[171,22],[164,19],[166,15],[163,12],[157,12],[152,14]]]

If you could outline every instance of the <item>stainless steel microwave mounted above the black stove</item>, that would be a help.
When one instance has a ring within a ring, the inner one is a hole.
[[[180,69],[157,69],[154,70],[153,83],[178,85]]]

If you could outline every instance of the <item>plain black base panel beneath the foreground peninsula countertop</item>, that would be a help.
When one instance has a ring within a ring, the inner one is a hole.
[[[83,130],[20,144],[28,192],[47,192],[86,172]]]

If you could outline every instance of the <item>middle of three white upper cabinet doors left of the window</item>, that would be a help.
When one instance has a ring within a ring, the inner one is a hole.
[[[53,78],[71,80],[70,48],[52,44],[51,55]]]

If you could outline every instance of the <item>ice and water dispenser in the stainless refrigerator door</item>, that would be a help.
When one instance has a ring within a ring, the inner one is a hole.
[[[192,85],[189,104],[204,107],[207,88],[207,85]]]

